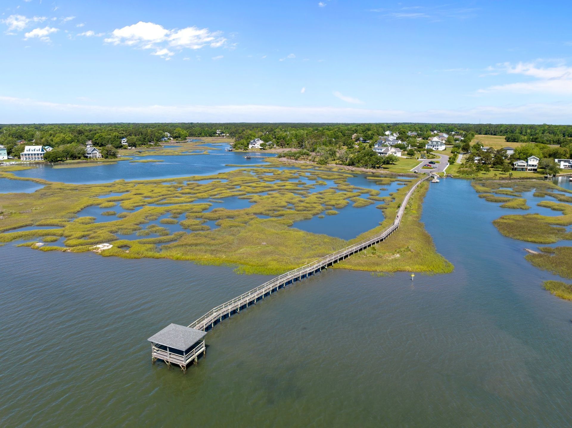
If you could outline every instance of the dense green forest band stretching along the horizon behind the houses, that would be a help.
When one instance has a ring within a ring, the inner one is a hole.
[[[375,158],[371,150],[374,142],[386,130],[399,134],[404,141],[402,149],[413,146],[408,156],[415,151],[424,150],[424,142],[407,132],[417,132],[416,137],[427,138],[431,130],[439,132],[458,132],[470,143],[475,134],[501,135],[506,141],[535,142],[545,156],[552,156],[543,144],[556,144],[561,150],[555,152],[559,157],[567,157],[572,149],[572,125],[494,125],[494,124],[328,124],[328,123],[155,123],[155,124],[30,124],[0,125],[0,144],[4,145],[11,156],[18,156],[26,144],[51,146],[53,160],[81,158],[85,156],[84,145],[92,140],[95,146],[104,148],[105,157],[114,157],[116,149],[122,147],[121,138],[127,138],[129,146],[148,146],[156,144],[169,133],[174,140],[186,137],[215,137],[217,130],[235,139],[235,148],[247,148],[248,141],[260,138],[279,147],[297,150],[300,153],[317,153],[317,161],[327,162],[336,157],[345,164],[370,165],[382,162]],[[360,138],[362,140],[360,140]],[[452,138],[452,137],[451,137]],[[367,141],[366,143],[359,141]],[[356,142],[359,142],[356,146]],[[449,141],[452,144],[452,140]],[[337,151],[337,154],[336,154]],[[554,151],[554,150],[553,150]],[[341,152],[341,153],[340,153]],[[544,153],[546,152],[546,153]],[[564,156],[567,155],[567,156]],[[386,160],[387,161],[387,160]]]

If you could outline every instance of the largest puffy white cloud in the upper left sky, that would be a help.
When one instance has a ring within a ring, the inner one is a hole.
[[[127,45],[138,49],[201,49],[204,46],[220,47],[227,41],[220,31],[209,31],[206,28],[186,27],[169,30],[153,22],[138,22],[133,25],[113,30],[106,43]]]

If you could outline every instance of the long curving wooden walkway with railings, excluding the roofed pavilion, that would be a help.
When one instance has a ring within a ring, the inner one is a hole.
[[[418,185],[423,181],[426,181],[430,178],[430,175],[423,177],[423,179],[419,180],[411,187],[411,189],[409,189],[398,209],[394,222],[382,232],[356,244],[349,245],[349,247],[340,249],[339,251],[321,257],[321,259],[312,261],[311,263],[305,264],[302,267],[296,268],[295,270],[276,276],[276,278],[273,278],[268,282],[265,282],[264,284],[261,284],[260,286],[253,288],[252,290],[247,291],[232,300],[229,300],[228,302],[212,308],[210,311],[206,312],[205,315],[201,316],[201,318],[189,324],[189,327],[206,331],[209,327],[214,327],[217,322],[220,322],[227,316],[230,316],[233,312],[240,312],[242,308],[248,307],[249,304],[256,303],[257,300],[264,299],[264,296],[270,295],[272,292],[275,292],[280,288],[295,282],[296,280],[307,278],[308,275],[313,275],[316,272],[321,271],[323,268],[337,263],[337,261],[343,260],[352,254],[355,254],[356,252],[362,251],[362,249],[371,247],[371,245],[385,240],[399,227],[403,212],[405,211],[405,207],[416,187],[418,187]]]

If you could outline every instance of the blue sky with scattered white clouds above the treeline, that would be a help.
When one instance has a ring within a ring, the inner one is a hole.
[[[0,122],[570,124],[570,2],[2,0]]]

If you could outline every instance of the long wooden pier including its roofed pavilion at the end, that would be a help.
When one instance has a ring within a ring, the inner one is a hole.
[[[308,278],[310,275],[317,274],[340,260],[347,259],[347,257],[363,249],[386,240],[388,236],[399,228],[405,207],[412,193],[420,183],[431,178],[431,175],[427,175],[411,187],[399,207],[394,222],[377,235],[344,249],[340,249],[300,268],[276,276],[276,278],[212,308],[186,327],[170,324],[157,334],[151,336],[148,340],[151,342],[152,362],[154,363],[157,359],[161,359],[167,366],[170,367],[171,364],[178,364],[181,370],[186,372],[186,366],[189,363],[197,363],[198,356],[200,356],[200,354],[205,355],[205,344],[202,338],[206,335],[206,331],[211,330],[216,324],[229,318],[231,315],[238,314],[241,310],[247,309],[250,305],[255,304],[259,300],[263,300],[265,297],[272,295],[272,293],[279,291],[280,288]]]

